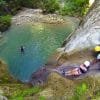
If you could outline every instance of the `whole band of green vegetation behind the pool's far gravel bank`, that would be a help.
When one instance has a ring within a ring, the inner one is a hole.
[[[63,6],[61,4],[64,4]],[[0,31],[5,31],[10,26],[8,15],[15,15],[22,7],[40,8],[44,13],[59,13],[82,17],[86,14],[89,0],[0,0]],[[4,19],[8,18],[8,21]],[[4,21],[4,22],[3,22]]]

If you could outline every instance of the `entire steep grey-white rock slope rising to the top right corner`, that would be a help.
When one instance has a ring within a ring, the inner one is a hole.
[[[80,28],[76,30],[70,41],[65,45],[65,52],[71,54],[85,48],[100,44],[100,1],[97,0],[93,9],[87,14]]]

